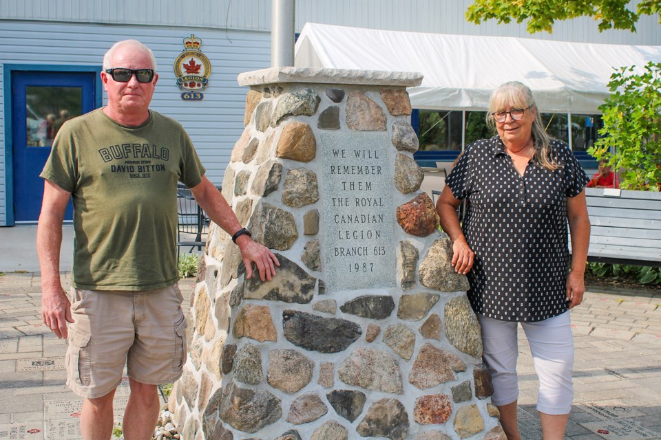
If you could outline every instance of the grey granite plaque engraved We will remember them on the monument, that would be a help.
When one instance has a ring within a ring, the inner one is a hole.
[[[326,290],[394,287],[394,166],[388,133],[321,133],[319,141]]]

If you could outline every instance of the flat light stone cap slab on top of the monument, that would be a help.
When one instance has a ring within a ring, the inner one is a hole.
[[[344,85],[388,85],[415,87],[422,84],[419,72],[387,70],[319,69],[318,67],[270,67],[244,72],[238,76],[241,86],[277,83],[319,83]]]

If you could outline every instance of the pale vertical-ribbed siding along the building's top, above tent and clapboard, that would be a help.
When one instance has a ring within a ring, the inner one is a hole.
[[[639,0],[631,0],[636,10]],[[305,23],[326,23],[384,30],[439,34],[517,36],[583,43],[661,45],[657,17],[644,16],[638,32],[598,32],[591,18],[560,21],[553,34],[530,35],[525,23],[481,25],[465,21],[474,0],[297,0],[297,32]],[[271,0],[1,0],[3,19],[79,21],[207,28],[271,29]]]

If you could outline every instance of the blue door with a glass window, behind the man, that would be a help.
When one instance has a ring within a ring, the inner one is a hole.
[[[39,219],[39,173],[63,122],[94,109],[96,77],[95,72],[12,71],[14,221]],[[71,203],[65,219],[72,219]]]

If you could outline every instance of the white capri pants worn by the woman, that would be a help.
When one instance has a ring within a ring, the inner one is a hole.
[[[494,385],[496,406],[518,399],[516,358],[519,322],[496,320],[477,314],[482,327],[483,360]],[[569,311],[538,322],[521,322],[539,379],[537,410],[551,415],[569,414],[574,388],[574,338]]]

